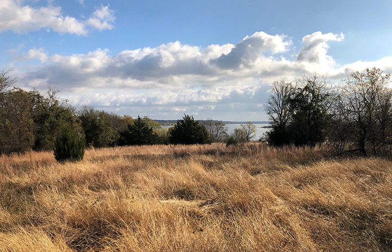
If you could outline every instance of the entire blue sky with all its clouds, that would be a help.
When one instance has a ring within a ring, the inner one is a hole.
[[[0,0],[0,69],[119,115],[268,120],[270,84],[392,73],[391,0]]]

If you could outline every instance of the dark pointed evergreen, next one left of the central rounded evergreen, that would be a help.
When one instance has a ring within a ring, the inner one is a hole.
[[[148,126],[146,120],[138,118],[133,124],[128,124],[125,131],[120,133],[120,145],[149,145],[160,144],[161,138],[152,127]]]

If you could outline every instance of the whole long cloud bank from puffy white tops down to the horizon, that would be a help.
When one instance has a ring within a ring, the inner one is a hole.
[[[39,59],[42,65],[23,72],[19,80],[29,88],[59,88],[75,104],[120,113],[138,109],[141,112],[136,113],[159,112],[166,118],[183,112],[211,117],[247,113],[267,119],[263,103],[272,81],[292,81],[313,73],[339,81],[352,71],[371,67],[392,72],[391,56],[336,66],[328,55],[329,43],[343,38],[343,34],[315,32],[303,37],[298,53],[293,53],[291,38],[265,32],[246,36],[236,45],[201,48],[177,41],[117,55],[99,48],[87,54],[49,55],[43,48],[34,48],[24,57]]]

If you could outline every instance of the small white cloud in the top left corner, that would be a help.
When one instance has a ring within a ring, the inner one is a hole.
[[[112,29],[115,15],[109,5],[96,10],[89,19],[78,20],[63,16],[61,7],[30,7],[21,5],[18,0],[0,0],[0,32],[12,30],[16,33],[27,33],[43,28],[59,33],[87,35],[91,28]]]

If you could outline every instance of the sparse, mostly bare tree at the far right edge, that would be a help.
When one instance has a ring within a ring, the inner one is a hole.
[[[340,153],[385,155],[392,147],[390,74],[380,69],[354,72],[345,79],[336,115],[335,145]]]

